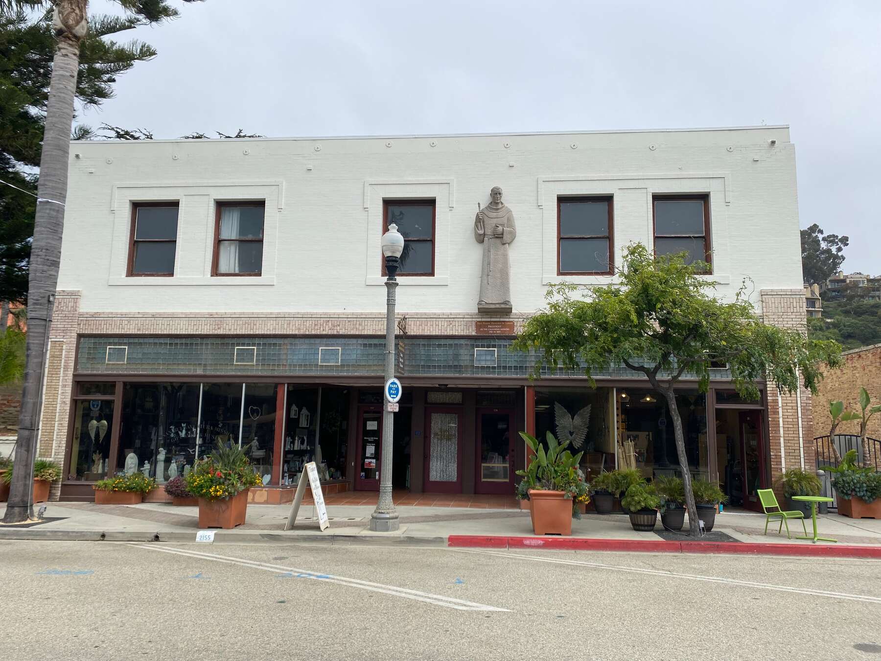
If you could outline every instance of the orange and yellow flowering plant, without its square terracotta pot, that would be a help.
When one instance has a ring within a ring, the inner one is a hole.
[[[186,477],[187,491],[196,498],[219,501],[241,494],[251,486],[263,485],[248,461],[248,448],[218,442],[211,454],[200,459]]]

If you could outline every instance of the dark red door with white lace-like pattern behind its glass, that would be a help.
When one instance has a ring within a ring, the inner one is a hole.
[[[428,493],[462,493],[462,412],[426,408],[426,486]]]

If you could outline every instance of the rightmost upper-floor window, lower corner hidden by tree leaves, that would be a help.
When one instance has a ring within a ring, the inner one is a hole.
[[[687,253],[685,264],[712,264],[710,212],[706,195],[659,197],[655,207],[655,255]],[[710,272],[707,268],[704,272]]]

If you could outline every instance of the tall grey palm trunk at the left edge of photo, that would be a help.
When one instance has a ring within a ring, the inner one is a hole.
[[[46,128],[37,186],[37,212],[33,225],[27,289],[27,344],[25,385],[21,394],[19,438],[12,472],[5,524],[18,524],[33,516],[33,461],[37,454],[42,375],[48,327],[58,284],[70,125],[77,89],[79,41],[85,34],[87,0],[62,0],[56,5],[58,50],[52,62],[52,80],[46,107]]]

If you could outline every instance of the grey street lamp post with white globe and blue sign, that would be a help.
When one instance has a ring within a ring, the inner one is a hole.
[[[386,348],[385,380],[395,376],[395,274],[403,253],[403,236],[392,223],[389,231],[382,234],[382,254],[386,261]],[[394,449],[395,414],[389,410],[389,402],[383,393],[382,410],[382,455],[380,457],[380,499],[370,516],[370,530],[377,532],[396,531],[400,527],[391,496],[392,450]]]

